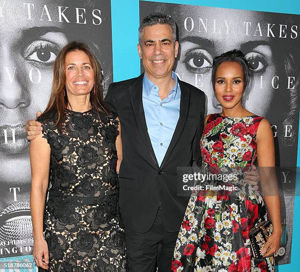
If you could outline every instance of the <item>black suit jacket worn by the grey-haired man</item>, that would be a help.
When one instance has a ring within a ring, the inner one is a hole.
[[[173,138],[158,166],[147,130],[143,109],[143,76],[112,83],[104,102],[121,122],[123,160],[119,173],[121,214],[125,229],[147,232],[159,202],[165,226],[178,231],[189,197],[177,196],[178,166],[201,164],[200,137],[203,131],[205,96],[194,86],[179,82],[180,115]]]

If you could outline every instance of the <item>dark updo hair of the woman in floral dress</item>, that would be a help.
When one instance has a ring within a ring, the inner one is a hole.
[[[239,63],[243,67],[243,71],[244,71],[244,90],[243,91],[245,91],[245,89],[250,81],[249,67],[248,67],[245,55],[242,53],[242,51],[240,51],[238,49],[234,49],[234,50],[228,51],[226,53],[223,53],[221,56],[215,57],[213,60],[211,81],[212,81],[215,92],[216,92],[215,80],[216,80],[216,72],[217,72],[218,66],[222,62],[233,62],[233,61]]]

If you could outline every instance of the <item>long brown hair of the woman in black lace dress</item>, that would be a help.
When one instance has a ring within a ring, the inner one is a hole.
[[[90,58],[91,65],[94,71],[94,78],[97,92],[91,91],[90,103],[93,109],[98,114],[106,113],[107,110],[103,104],[102,91],[103,91],[103,76],[102,69],[99,61],[97,60],[93,51],[83,42],[73,41],[68,43],[61,51],[59,51],[53,65],[53,81],[50,100],[43,112],[43,116],[56,117],[55,126],[62,128],[62,122],[65,116],[65,110],[69,104],[67,94],[65,93],[66,85],[66,72],[65,60],[69,52],[81,50],[85,52]]]

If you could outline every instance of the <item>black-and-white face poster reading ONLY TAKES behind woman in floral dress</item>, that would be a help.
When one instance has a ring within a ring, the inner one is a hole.
[[[175,19],[179,41],[174,71],[206,95],[207,114],[221,105],[211,83],[215,56],[240,49],[250,64],[250,85],[242,101],[250,112],[273,125],[277,165],[296,166],[299,124],[299,17],[289,14],[140,1],[140,20],[151,12]],[[279,264],[289,263],[295,175],[281,173],[284,234]]]

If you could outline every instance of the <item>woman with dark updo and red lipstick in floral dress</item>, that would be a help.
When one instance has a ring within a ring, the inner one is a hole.
[[[282,229],[280,200],[272,172],[273,132],[266,119],[242,105],[249,78],[241,51],[229,51],[214,59],[212,82],[223,110],[205,118],[200,148],[203,172],[223,179],[211,175],[200,184],[204,190],[192,193],[171,271],[275,272],[272,255],[279,248]],[[245,174],[256,161],[262,192],[268,192],[264,196],[244,182]],[[219,185],[227,188],[220,189]],[[261,252],[263,258],[254,258],[250,253],[249,231],[269,216],[273,234]]]

